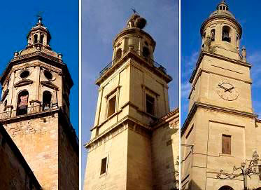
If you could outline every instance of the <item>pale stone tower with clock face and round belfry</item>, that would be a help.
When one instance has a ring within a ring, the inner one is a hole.
[[[245,180],[233,169],[248,165],[253,153],[261,152],[261,123],[251,100],[251,64],[246,48],[239,46],[241,25],[221,1],[200,33],[202,50],[190,77],[189,114],[181,130],[181,189],[236,190],[243,189],[244,182],[258,188],[258,175]],[[261,164],[255,164],[260,170]],[[238,177],[222,179],[226,173]]]

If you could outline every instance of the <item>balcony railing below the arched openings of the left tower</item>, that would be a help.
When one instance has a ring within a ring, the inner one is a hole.
[[[51,109],[57,109],[58,107],[43,107],[42,105],[37,105],[34,107],[27,107],[27,109],[16,109],[10,111],[4,111],[0,113],[0,120],[7,119],[7,118],[14,118],[18,116],[27,116],[31,114],[36,114],[40,112],[49,111]]]

